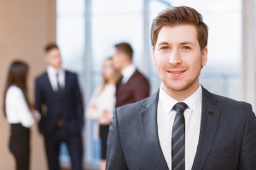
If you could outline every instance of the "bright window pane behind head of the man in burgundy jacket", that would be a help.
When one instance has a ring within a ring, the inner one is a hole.
[[[92,1],[92,69],[100,76],[103,60],[113,54],[118,42],[130,42],[134,61],[143,59],[143,15],[141,1]],[[114,4],[114,5],[113,5]],[[104,7],[104,8],[102,8]],[[98,82],[98,81],[96,81]]]

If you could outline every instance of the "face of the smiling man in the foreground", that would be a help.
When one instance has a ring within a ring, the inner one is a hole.
[[[153,47],[154,63],[168,94],[194,93],[207,48],[201,51],[195,26],[163,26]]]

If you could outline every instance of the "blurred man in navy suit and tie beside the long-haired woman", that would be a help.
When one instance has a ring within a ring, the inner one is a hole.
[[[84,126],[83,101],[76,74],[61,68],[61,53],[55,43],[45,48],[47,70],[36,79],[36,109],[42,118],[38,124],[44,135],[49,170],[59,170],[60,146],[64,142],[73,170],[82,170]]]

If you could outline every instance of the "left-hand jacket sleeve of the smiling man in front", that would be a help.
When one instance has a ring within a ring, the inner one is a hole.
[[[128,169],[119,138],[117,110],[113,112],[108,133],[107,170]]]

